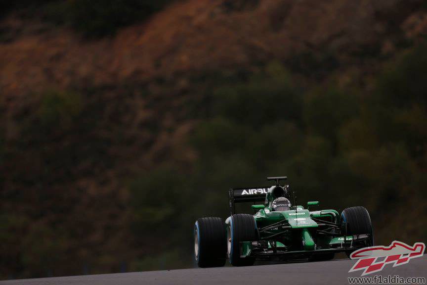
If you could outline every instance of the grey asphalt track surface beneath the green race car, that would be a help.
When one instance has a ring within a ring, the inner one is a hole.
[[[2,281],[1,285],[299,285],[348,284],[347,277],[360,277],[360,272],[348,273],[353,260],[259,265],[248,267],[192,268],[134,273],[83,275],[41,279]],[[427,256],[414,258],[408,264],[392,267],[369,276],[424,277],[427,280]]]

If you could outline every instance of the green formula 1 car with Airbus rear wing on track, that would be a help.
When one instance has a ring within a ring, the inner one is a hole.
[[[286,177],[269,177],[271,187],[229,190],[231,216],[200,218],[194,226],[194,255],[199,267],[223,266],[228,257],[234,266],[253,265],[256,260],[329,260],[337,252],[374,245],[371,218],[364,207],[342,211],[310,211],[295,205],[295,192],[280,185]],[[290,200],[293,200],[294,205]],[[239,202],[263,202],[252,205],[255,215],[235,214]]]

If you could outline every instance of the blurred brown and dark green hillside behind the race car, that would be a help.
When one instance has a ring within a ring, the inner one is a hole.
[[[0,278],[193,266],[267,175],[426,241],[425,1],[150,2],[1,2]]]

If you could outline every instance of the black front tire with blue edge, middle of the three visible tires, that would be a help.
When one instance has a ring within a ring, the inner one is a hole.
[[[254,216],[249,214],[232,215],[227,227],[228,260],[233,266],[254,265],[255,257],[240,257],[241,241],[255,241],[258,239],[258,230]]]

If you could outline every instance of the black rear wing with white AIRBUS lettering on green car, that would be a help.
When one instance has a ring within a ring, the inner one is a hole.
[[[228,191],[230,214],[231,215],[235,214],[236,203],[263,202],[265,200],[265,196],[267,195],[267,190],[270,187],[271,186],[231,188]]]

